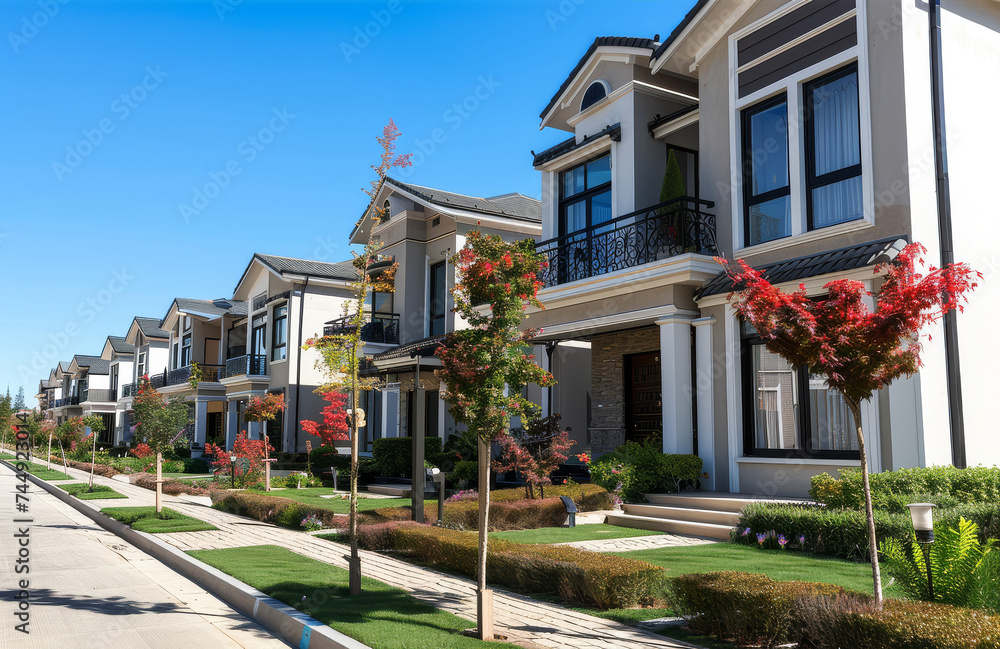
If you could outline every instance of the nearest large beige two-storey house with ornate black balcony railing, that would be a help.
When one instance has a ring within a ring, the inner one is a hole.
[[[936,69],[937,4],[699,0],[662,41],[590,45],[541,113],[543,128],[571,137],[534,155],[550,267],[546,309],[530,321],[559,381],[544,406],[586,420],[584,447],[653,439],[698,454],[702,486],[734,493],[803,496],[813,475],[859,465],[841,397],[734,317],[712,257],[817,296],[835,278],[874,288],[875,263],[908,241],[940,263],[943,176],[954,258],[989,270],[974,215],[984,156],[1000,146],[982,128],[998,92],[966,77],[1000,69],[1000,10],[946,3]],[[950,174],[935,174],[936,132]],[[661,202],[665,185],[675,191]],[[1000,460],[978,360],[1000,345],[988,334],[1000,315],[991,279],[956,318],[958,354],[931,332],[919,375],[864,404],[872,470],[963,466],[965,447],[971,463]]]

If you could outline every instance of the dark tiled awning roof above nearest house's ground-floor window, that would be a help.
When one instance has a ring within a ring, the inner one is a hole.
[[[837,250],[829,250],[815,255],[796,257],[785,261],[761,266],[764,277],[772,284],[794,282],[807,277],[842,273],[873,265],[873,259],[891,244],[906,240],[905,236],[888,237],[878,241],[869,241]],[[698,290],[698,299],[709,295],[729,293],[733,290],[733,282],[725,273],[719,273],[705,282]]]

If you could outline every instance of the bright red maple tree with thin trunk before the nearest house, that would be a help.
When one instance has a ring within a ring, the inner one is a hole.
[[[822,300],[810,299],[802,285],[794,293],[782,292],[743,260],[732,266],[717,258],[733,280],[730,303],[754,326],[767,349],[792,365],[824,375],[827,385],[844,396],[854,416],[872,580],[879,606],[882,581],[861,402],[900,376],[917,372],[921,366],[920,331],[952,309],[961,311],[966,294],[976,287],[974,279],[982,277],[965,264],[931,266],[921,273],[917,266],[924,265],[921,255],[925,252],[923,246],[912,243],[895,260],[876,266],[875,272],[885,271],[885,278],[874,294],[868,293],[862,282],[841,279],[824,286],[827,296]],[[874,311],[865,304],[869,296],[875,300]]]

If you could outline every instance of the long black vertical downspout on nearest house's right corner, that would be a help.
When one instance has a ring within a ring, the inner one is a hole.
[[[937,180],[938,237],[942,268],[955,261],[951,225],[951,188],[948,182],[948,142],[944,119],[944,67],[941,56],[941,0],[930,0],[928,11],[931,52],[931,114],[934,127],[934,171]],[[962,370],[958,354],[958,319],[944,316],[945,369],[948,375],[948,414],[951,424],[951,463],[966,467],[965,413],[962,406]]]

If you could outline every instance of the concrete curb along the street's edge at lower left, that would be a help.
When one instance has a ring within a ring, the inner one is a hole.
[[[0,460],[8,468],[17,468],[7,460]],[[349,636],[326,626],[319,620],[301,613],[256,588],[230,577],[152,534],[138,532],[119,523],[99,510],[89,507],[68,492],[50,485],[25,472],[31,482],[85,514],[105,530],[120,536],[164,565],[192,580],[208,592],[254,620],[271,633],[299,649],[371,649]]]

